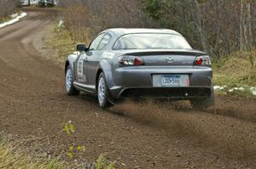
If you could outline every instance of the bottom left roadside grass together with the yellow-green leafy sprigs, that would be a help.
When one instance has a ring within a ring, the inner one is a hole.
[[[75,127],[71,121],[62,124],[62,129],[56,135],[61,139],[61,136],[66,135],[67,139],[72,140],[75,132]],[[0,169],[2,168],[31,168],[31,169],[72,169],[72,168],[88,168],[88,169],[114,169],[113,162],[108,161],[104,155],[99,155],[98,159],[93,164],[79,163],[76,159],[80,153],[86,150],[84,145],[71,144],[67,149],[62,149],[58,156],[49,155],[43,150],[38,150],[37,153],[27,146],[23,146],[26,142],[34,139],[28,138],[24,140],[16,140],[12,136],[7,136],[0,132]],[[16,141],[15,141],[16,140]],[[58,143],[57,143],[58,144]],[[55,145],[56,147],[58,145]],[[73,162],[76,161],[76,162]]]

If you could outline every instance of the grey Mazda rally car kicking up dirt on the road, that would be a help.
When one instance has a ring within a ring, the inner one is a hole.
[[[125,97],[214,104],[210,57],[177,31],[109,29],[77,49],[65,65],[68,95],[90,93],[103,109]]]

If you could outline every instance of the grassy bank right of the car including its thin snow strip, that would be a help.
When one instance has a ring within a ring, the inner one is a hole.
[[[213,59],[213,82],[217,94],[256,99],[256,50],[237,51]]]

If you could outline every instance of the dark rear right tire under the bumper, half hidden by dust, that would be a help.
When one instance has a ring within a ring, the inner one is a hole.
[[[191,99],[191,107],[195,110],[206,110],[215,104],[213,87],[211,89],[211,96],[206,99]]]

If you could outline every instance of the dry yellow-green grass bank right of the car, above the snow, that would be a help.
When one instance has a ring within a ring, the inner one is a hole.
[[[230,87],[256,86],[256,51],[236,52],[214,62],[214,82]]]

